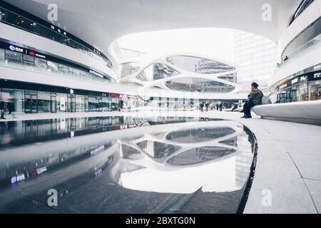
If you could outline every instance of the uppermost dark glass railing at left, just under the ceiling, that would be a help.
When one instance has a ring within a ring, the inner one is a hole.
[[[64,36],[62,33],[58,33],[53,29],[46,28],[45,26],[42,26],[34,21],[26,19],[24,18],[24,16],[20,16],[19,14],[16,14],[2,7],[0,7],[0,21],[5,24],[14,26],[16,28],[21,28],[25,31],[29,31],[38,36],[48,38],[51,41],[56,41],[68,47],[74,48],[78,51],[81,51],[82,53],[85,53],[87,56],[95,58],[96,61],[106,63],[106,66],[108,66],[108,68],[113,67],[111,61],[109,61],[108,58],[103,58],[102,56],[99,56],[98,53],[91,50],[90,48],[87,48],[86,46],[83,46],[83,44],[74,41],[72,38],[68,38],[67,36]]]

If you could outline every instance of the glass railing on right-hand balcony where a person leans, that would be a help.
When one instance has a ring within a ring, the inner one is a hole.
[[[295,59],[299,58],[300,56],[304,55],[309,51],[319,48],[320,46],[321,46],[321,34],[319,34],[315,38],[312,38],[312,40],[310,40],[309,42],[305,43],[305,45],[298,48],[297,51],[288,55],[287,58],[277,66],[277,70],[287,66],[287,64],[291,63]]]

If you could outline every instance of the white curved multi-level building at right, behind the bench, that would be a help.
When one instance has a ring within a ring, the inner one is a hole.
[[[320,12],[320,0],[302,1],[290,26],[280,37],[280,63],[270,78],[270,91],[280,103],[321,100]],[[301,107],[302,104],[297,105]],[[279,115],[275,113],[275,117]],[[302,119],[300,112],[297,119]]]

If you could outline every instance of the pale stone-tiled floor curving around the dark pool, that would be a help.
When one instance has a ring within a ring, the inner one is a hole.
[[[109,115],[223,118],[243,123],[255,133],[259,147],[258,163],[245,213],[321,212],[320,125],[262,120],[258,117],[244,120],[240,118],[240,113],[216,111],[31,114],[16,115],[14,120]]]

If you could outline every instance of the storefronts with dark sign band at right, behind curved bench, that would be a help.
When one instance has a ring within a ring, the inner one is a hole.
[[[277,86],[277,101],[292,103],[321,100],[321,71],[305,71]]]

